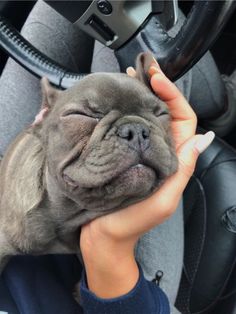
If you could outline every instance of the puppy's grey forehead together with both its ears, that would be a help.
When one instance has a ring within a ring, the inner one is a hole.
[[[64,110],[89,108],[90,112],[97,112],[100,116],[112,110],[119,110],[123,115],[167,111],[166,105],[154,95],[150,86],[148,69],[153,62],[150,53],[142,53],[136,60],[135,77],[121,73],[94,73],[63,92],[43,78],[42,108],[49,108],[59,115]]]

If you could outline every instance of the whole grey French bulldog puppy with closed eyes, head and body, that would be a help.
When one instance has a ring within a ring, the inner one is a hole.
[[[15,254],[77,252],[81,225],[146,198],[176,171],[152,62],[141,54],[135,78],[91,74],[65,91],[42,80],[41,118],[1,162],[0,269]]]

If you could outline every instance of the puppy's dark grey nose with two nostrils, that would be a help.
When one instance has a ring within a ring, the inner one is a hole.
[[[128,142],[129,147],[144,151],[150,143],[149,128],[141,123],[126,123],[118,127],[117,135]]]

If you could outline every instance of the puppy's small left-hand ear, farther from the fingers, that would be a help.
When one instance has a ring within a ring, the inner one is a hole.
[[[60,90],[54,88],[46,77],[43,77],[41,80],[41,88],[42,88],[42,108],[52,108],[54,103],[56,102]]]

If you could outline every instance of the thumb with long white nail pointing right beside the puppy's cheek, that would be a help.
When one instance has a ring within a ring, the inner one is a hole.
[[[199,154],[213,141],[215,133],[197,134],[186,141],[177,151],[179,171],[188,180],[194,172]]]

